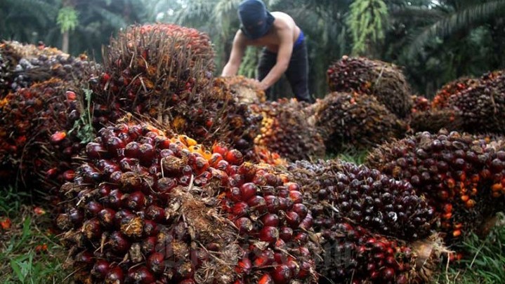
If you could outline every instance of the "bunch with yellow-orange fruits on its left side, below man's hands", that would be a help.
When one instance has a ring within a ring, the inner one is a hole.
[[[290,161],[323,156],[325,147],[322,137],[308,123],[304,108],[294,99],[252,104],[250,109],[253,114],[263,118],[254,144]]]

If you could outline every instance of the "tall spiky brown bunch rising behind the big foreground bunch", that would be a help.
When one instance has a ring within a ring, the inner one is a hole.
[[[212,80],[209,36],[178,25],[129,27],[112,39],[103,74],[94,86],[96,126],[121,111],[150,116],[207,147],[215,141],[250,151],[259,119],[230,88]]]

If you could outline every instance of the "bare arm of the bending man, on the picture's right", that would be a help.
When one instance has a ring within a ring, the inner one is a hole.
[[[279,50],[277,51],[277,62],[270,69],[270,72],[260,82],[261,89],[266,90],[270,88],[275,82],[279,81],[280,77],[286,72],[291,60],[291,53],[293,52],[293,36],[289,29],[282,29],[279,34],[280,43]]]

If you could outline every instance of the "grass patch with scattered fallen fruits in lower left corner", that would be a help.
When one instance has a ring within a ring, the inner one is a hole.
[[[27,205],[28,196],[13,188],[0,192],[0,219],[12,224],[0,229],[1,283],[65,283],[70,273],[63,269],[65,250],[48,231],[48,214]]]

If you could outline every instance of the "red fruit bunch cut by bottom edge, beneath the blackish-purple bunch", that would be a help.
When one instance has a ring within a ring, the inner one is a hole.
[[[324,251],[317,267],[320,284],[429,283],[440,257],[449,253],[436,236],[406,243],[343,220],[317,224],[317,219]]]

